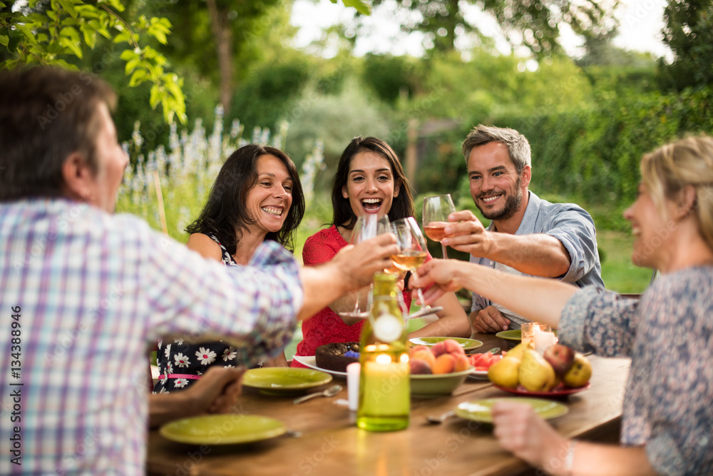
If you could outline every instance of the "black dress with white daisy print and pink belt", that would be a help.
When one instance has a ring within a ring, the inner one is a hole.
[[[208,234],[222,250],[222,263],[235,266],[235,260],[220,244],[217,237]],[[185,390],[195,384],[200,375],[213,366],[235,367],[237,350],[232,345],[220,341],[201,344],[185,343],[182,338],[159,340],[156,352],[158,365],[158,383],[153,393],[170,393],[175,390]],[[237,360],[240,361],[240,360]]]

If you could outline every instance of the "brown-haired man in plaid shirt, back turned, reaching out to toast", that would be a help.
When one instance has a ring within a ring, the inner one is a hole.
[[[296,319],[368,284],[396,252],[381,236],[299,268],[265,243],[250,267],[223,266],[113,216],[128,163],[114,101],[88,74],[0,74],[0,474],[144,472],[149,345],[222,338],[250,349],[246,365],[267,360]],[[239,377],[227,369],[202,406],[174,413],[225,409]]]

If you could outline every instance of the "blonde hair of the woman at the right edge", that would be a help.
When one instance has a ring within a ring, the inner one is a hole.
[[[697,136],[667,143],[641,159],[641,179],[664,218],[664,201],[679,200],[686,186],[696,190],[691,213],[713,249],[713,138]]]

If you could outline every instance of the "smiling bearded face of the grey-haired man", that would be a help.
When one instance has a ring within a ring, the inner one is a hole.
[[[471,149],[468,181],[478,210],[490,220],[507,220],[521,211],[523,193],[530,183],[530,167],[515,169],[508,147],[488,142]]]

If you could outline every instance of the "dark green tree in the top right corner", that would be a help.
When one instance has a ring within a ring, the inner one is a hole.
[[[665,81],[677,89],[713,83],[713,4],[710,0],[669,0],[664,9],[664,43],[675,57],[661,63]]]

